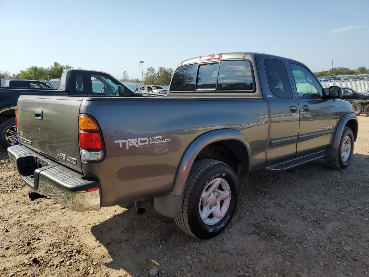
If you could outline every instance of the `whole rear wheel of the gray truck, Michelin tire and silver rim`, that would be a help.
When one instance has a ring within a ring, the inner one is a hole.
[[[230,223],[238,203],[238,181],[232,168],[221,161],[196,161],[184,189],[178,227],[190,236],[210,239]]]

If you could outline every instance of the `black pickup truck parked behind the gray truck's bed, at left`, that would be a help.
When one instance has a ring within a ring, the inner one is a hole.
[[[56,96],[141,96],[114,76],[83,69],[66,69],[62,73],[60,89],[52,88],[0,88],[0,145],[5,149],[19,144],[16,106],[21,95]]]

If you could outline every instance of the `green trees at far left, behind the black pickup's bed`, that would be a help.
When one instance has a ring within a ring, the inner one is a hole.
[[[58,62],[50,67],[30,66],[19,73],[11,75],[8,71],[0,71],[0,78],[15,78],[25,80],[50,80],[61,78],[64,69],[72,68],[69,65],[61,65]]]

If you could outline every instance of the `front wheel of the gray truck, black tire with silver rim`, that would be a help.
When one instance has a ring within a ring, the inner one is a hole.
[[[354,133],[351,128],[345,127],[339,142],[337,156],[332,160],[327,160],[327,165],[334,169],[344,169],[351,162],[354,152]]]

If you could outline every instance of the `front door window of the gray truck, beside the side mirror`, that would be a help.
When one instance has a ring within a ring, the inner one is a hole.
[[[318,80],[307,68],[297,64],[290,64],[296,84],[297,95],[303,98],[322,98],[323,89]]]

